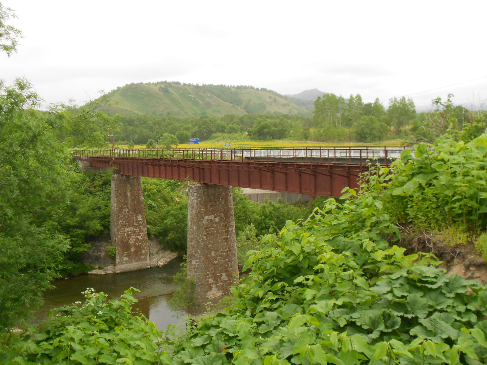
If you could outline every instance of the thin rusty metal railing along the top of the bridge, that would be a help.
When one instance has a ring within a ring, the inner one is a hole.
[[[291,147],[291,148],[143,148],[143,149],[87,149],[73,150],[78,159],[94,157],[156,158],[175,160],[211,161],[281,161],[366,164],[368,160],[379,160],[388,165],[409,146],[380,147]]]

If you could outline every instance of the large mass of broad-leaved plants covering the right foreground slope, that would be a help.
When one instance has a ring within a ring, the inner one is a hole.
[[[391,247],[368,198],[288,221],[249,257],[235,306],[176,343],[173,364],[484,363],[487,290]]]

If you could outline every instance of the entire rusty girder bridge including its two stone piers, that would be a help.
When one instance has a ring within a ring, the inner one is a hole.
[[[192,180],[188,187],[188,277],[201,303],[230,293],[238,273],[231,186],[339,197],[369,163],[388,166],[408,147],[295,147],[74,150],[83,168],[112,174],[115,271],[149,267],[140,177]]]

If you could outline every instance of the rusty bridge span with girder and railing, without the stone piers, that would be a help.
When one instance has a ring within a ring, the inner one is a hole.
[[[358,186],[367,160],[388,165],[405,148],[107,149],[72,155],[125,175],[339,197],[344,187]]]

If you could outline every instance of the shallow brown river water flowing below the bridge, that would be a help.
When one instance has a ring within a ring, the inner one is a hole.
[[[173,283],[173,276],[181,271],[181,262],[180,258],[176,258],[162,267],[129,273],[79,275],[58,279],[54,282],[56,289],[44,294],[45,303],[37,311],[33,324],[36,325],[45,319],[50,309],[70,305],[76,301],[84,302],[85,297],[81,292],[86,288],[94,288],[96,292],[104,292],[110,298],[117,298],[125,290],[134,287],[140,289],[140,292],[134,292],[134,296],[139,300],[134,308],[140,309],[161,330],[167,329],[170,324],[179,325],[184,320],[185,313],[171,310],[168,300],[177,289]]]

